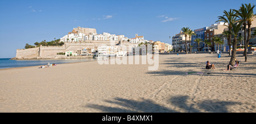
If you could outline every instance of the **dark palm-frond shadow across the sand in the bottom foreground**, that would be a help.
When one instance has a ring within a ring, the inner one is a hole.
[[[228,113],[227,106],[229,105],[241,105],[240,102],[232,101],[216,101],[216,100],[205,100],[198,102],[198,108],[188,105],[187,101],[191,100],[188,96],[175,96],[167,100],[168,104],[171,104],[175,108],[180,108],[187,113],[201,113],[201,112],[212,112],[212,113]],[[98,109],[108,113],[179,113],[181,111],[173,110],[165,106],[156,104],[152,100],[127,100],[123,98],[114,98],[114,100],[106,100],[108,104],[112,104],[117,107],[110,107],[105,105],[90,104],[84,107]],[[170,103],[169,103],[170,102]]]

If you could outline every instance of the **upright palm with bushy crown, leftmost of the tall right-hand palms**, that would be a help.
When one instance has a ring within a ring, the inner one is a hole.
[[[225,24],[227,24],[226,26],[228,27],[228,31],[232,30],[232,24],[231,23],[235,23],[237,21],[237,16],[234,16],[235,11],[230,9],[229,11],[224,10],[224,15],[222,16],[218,16],[218,20],[216,22],[224,22]],[[228,34],[227,38],[228,38],[228,45],[229,45],[229,49],[231,49],[231,34]],[[229,50],[229,55],[231,55],[231,51]]]

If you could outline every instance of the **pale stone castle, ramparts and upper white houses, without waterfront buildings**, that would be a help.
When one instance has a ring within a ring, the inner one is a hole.
[[[78,36],[79,34],[83,36],[83,38],[80,38]],[[69,36],[71,36],[71,38],[69,38]],[[93,36],[93,37],[90,39],[90,36]],[[100,38],[100,36],[103,36],[103,37]],[[58,53],[65,53],[66,51],[77,52],[77,51],[81,51],[81,49],[84,49],[84,48],[97,49],[98,46],[102,44],[104,44],[105,46],[113,46],[115,44],[137,45],[137,44],[127,42],[126,40],[127,38],[125,38],[123,35],[119,35],[115,37],[112,37],[112,36],[115,36],[115,35],[110,35],[108,33],[97,35],[97,31],[94,28],[77,27],[77,28],[73,28],[73,31],[68,33],[68,38],[65,38],[65,36],[61,38],[61,40],[63,40],[64,42],[63,46],[40,46],[40,47],[29,48],[29,49],[16,49],[15,59],[65,58],[67,56],[58,55]]]

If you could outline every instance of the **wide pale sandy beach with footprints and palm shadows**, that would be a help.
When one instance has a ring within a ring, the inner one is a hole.
[[[158,71],[97,61],[1,69],[0,112],[256,112],[256,55],[222,71],[226,56],[160,55]]]

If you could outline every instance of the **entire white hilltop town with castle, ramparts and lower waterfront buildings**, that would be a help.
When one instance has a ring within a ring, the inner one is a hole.
[[[94,28],[73,28],[71,32],[56,40],[64,43],[62,46],[42,45],[35,43],[36,46],[25,49],[16,49],[14,59],[64,59],[64,58],[88,58],[96,53],[104,56],[127,56],[129,49],[124,51],[122,46],[138,47],[141,44],[152,44],[156,52],[167,52],[172,50],[172,46],[167,43],[154,42],[144,39],[144,36],[135,34],[135,38],[127,38],[125,35],[114,35],[107,32],[97,34]],[[45,41],[44,41],[45,42]]]

